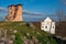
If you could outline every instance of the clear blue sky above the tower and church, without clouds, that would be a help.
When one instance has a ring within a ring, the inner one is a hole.
[[[7,9],[10,4],[23,4],[23,10],[34,13],[42,13],[40,15],[53,15],[55,14],[56,10],[59,8],[66,9],[64,2],[62,0],[0,0],[0,8]],[[1,13],[1,12],[0,12]],[[7,13],[2,13],[7,14]],[[31,16],[31,18],[29,18]],[[40,19],[43,16],[38,15],[29,15],[23,14],[24,20],[29,19]]]

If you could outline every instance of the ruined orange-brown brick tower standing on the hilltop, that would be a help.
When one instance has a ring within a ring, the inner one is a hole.
[[[9,7],[9,14],[7,16],[7,21],[11,21],[11,22],[23,21],[21,4],[16,4],[16,6],[12,4]]]

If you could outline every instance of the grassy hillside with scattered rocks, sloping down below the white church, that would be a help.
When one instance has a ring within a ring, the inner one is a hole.
[[[35,29],[34,29],[35,28]],[[7,32],[7,37],[14,35],[14,44],[57,44],[51,34],[31,26],[25,22],[0,22],[0,30]]]

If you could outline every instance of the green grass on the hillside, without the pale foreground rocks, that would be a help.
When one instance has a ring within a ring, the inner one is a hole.
[[[32,40],[32,36],[35,36],[41,44],[57,44],[51,34],[47,34],[44,31],[41,31],[35,26],[35,30],[32,30],[31,26],[28,26],[25,22],[0,22],[0,28],[4,30],[16,30],[14,44],[22,44],[21,37],[26,36],[28,40]],[[29,33],[29,35],[26,34]]]

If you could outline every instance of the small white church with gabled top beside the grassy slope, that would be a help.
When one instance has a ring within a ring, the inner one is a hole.
[[[55,34],[55,22],[52,21],[50,18],[46,18],[44,21],[41,22],[41,30]]]

